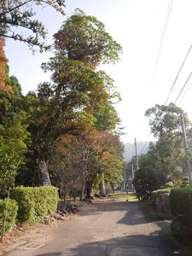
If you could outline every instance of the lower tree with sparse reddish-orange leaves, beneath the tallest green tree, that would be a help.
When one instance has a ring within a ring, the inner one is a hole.
[[[87,129],[79,136],[65,135],[57,144],[57,156],[51,163],[51,176],[59,183],[63,191],[73,189],[73,192],[80,192],[80,199],[90,198],[90,192],[98,174],[101,174],[108,183],[119,181],[121,172],[121,159],[119,156],[118,137],[108,132]],[[59,153],[60,152],[60,153]],[[59,154],[58,154],[59,153]],[[56,170],[56,172],[55,172]],[[101,176],[100,175],[100,176]],[[75,177],[75,178],[74,178]],[[76,194],[77,194],[76,193]]]

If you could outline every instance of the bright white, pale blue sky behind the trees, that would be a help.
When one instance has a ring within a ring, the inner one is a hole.
[[[116,108],[125,127],[123,142],[151,140],[148,108],[165,104],[183,59],[192,44],[191,0],[67,0],[66,15],[51,8],[38,8],[38,19],[49,31],[48,41],[76,8],[101,20],[107,32],[123,46],[123,54],[115,65],[102,66],[117,86],[122,102]],[[41,63],[49,61],[50,53],[32,52],[26,44],[7,41],[6,55],[10,73],[15,75],[23,93],[36,90],[38,84],[49,81]],[[174,102],[192,71],[192,50],[187,58],[169,102]],[[177,105],[192,120],[192,78],[186,84]]]

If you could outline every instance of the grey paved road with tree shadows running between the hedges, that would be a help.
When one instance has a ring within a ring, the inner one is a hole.
[[[42,239],[17,247],[6,256],[169,256],[168,221],[150,218],[134,202],[90,205]]]

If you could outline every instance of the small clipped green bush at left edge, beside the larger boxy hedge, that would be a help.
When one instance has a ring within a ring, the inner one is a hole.
[[[7,207],[7,211],[6,211]],[[17,216],[18,206],[15,200],[5,199],[0,200],[0,226],[2,230],[3,219],[6,214],[5,232],[9,232],[11,228],[15,225],[15,220]]]

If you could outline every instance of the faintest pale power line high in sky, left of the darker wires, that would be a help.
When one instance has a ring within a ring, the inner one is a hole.
[[[161,36],[160,36],[160,44],[159,44],[158,52],[157,52],[157,55],[156,55],[156,60],[154,62],[154,70],[153,70],[153,73],[152,73],[150,87],[154,83],[154,77],[155,77],[155,74],[157,72],[157,67],[158,67],[158,64],[159,64],[159,61],[160,61],[160,54],[161,54],[161,50],[162,50],[165,35],[166,35],[166,27],[168,25],[169,18],[170,18],[171,13],[172,13],[172,4],[173,4],[173,0],[169,0],[168,6],[167,6],[167,9],[166,9],[166,19],[164,21],[163,29],[162,29]]]

